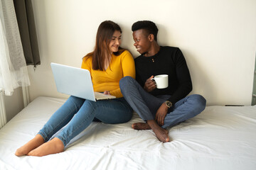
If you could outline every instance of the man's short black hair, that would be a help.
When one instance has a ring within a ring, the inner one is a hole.
[[[137,21],[132,25],[132,31],[135,30],[140,30],[144,29],[148,32],[148,34],[153,34],[154,35],[154,40],[157,42],[157,33],[158,33],[158,28],[156,27],[156,24],[153,23],[152,21]]]

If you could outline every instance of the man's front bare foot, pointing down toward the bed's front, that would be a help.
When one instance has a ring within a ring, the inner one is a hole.
[[[156,137],[161,142],[170,142],[170,138],[168,136],[168,130],[161,128],[155,120],[148,120],[147,123],[149,124],[151,130],[156,134]]]

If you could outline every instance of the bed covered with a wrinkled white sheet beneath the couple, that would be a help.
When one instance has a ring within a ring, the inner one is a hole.
[[[0,130],[0,169],[256,169],[256,106],[208,106],[169,130],[171,142],[128,123],[92,123],[65,152],[16,157],[65,99],[38,97]]]

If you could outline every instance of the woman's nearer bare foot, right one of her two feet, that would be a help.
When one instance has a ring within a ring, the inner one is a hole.
[[[53,140],[50,140],[41,145],[40,147],[33,149],[31,152],[28,152],[28,156],[42,157],[48,154],[57,154],[63,151],[63,142],[58,139],[58,137],[54,137]]]

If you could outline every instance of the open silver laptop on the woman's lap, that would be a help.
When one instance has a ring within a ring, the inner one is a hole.
[[[70,67],[63,64],[50,63],[57,91],[90,101],[116,98],[115,96],[93,91],[92,79],[87,69]]]

